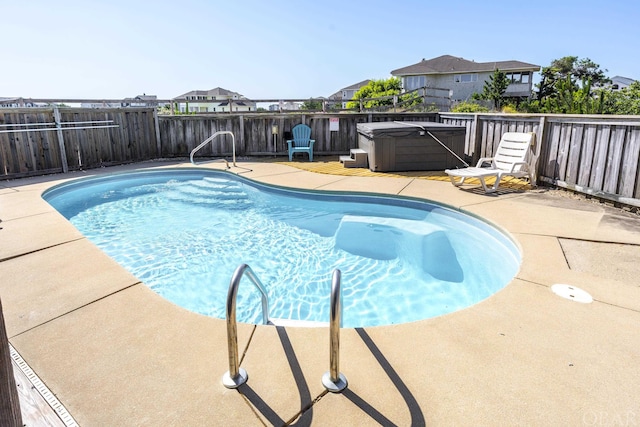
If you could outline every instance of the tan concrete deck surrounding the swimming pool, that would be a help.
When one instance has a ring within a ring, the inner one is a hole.
[[[188,163],[3,181],[9,341],[79,425],[640,424],[640,216],[545,189],[485,195],[446,181],[238,165],[252,171],[232,171],[265,183],[421,197],[481,216],[517,240],[521,269],[467,309],[342,329],[341,394],[321,383],[327,328],[240,324],[249,380],[229,390],[225,321],[156,295],[41,198],[65,180]],[[593,303],[555,295],[556,283]]]

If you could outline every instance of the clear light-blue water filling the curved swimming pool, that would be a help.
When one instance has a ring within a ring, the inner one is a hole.
[[[520,253],[476,218],[421,200],[260,184],[172,169],[80,179],[43,195],[88,239],[168,300],[224,318],[229,281],[249,264],[270,316],[329,320],[342,272],[345,327],[450,313],[503,288]],[[243,279],[238,320],[261,322]]]

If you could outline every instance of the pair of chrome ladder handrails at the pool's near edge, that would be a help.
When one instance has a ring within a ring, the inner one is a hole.
[[[240,264],[233,273],[227,293],[227,347],[229,371],[222,376],[222,384],[227,388],[238,388],[247,382],[247,371],[240,368],[238,360],[238,325],[236,321],[236,297],[238,286],[244,274],[260,291],[262,297],[262,323],[269,321],[269,297],[264,285],[247,264]],[[339,393],[347,387],[346,377],[340,373],[340,328],[342,327],[342,292],[340,291],[340,270],[333,271],[331,279],[331,318],[329,321],[329,371],[322,376],[322,384],[332,393]]]

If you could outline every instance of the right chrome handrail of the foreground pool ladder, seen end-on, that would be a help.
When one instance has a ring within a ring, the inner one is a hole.
[[[342,327],[340,277],[340,270],[333,270],[329,320],[329,371],[322,376],[322,384],[332,393],[339,393],[347,388],[347,378],[340,373],[340,328]]]

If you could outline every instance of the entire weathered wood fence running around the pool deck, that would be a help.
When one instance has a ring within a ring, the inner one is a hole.
[[[337,130],[332,130],[336,120]],[[469,162],[491,156],[504,132],[534,132],[531,163],[536,165],[538,182],[640,206],[638,116],[388,112],[158,116],[152,108],[7,108],[0,109],[0,173],[11,179],[186,158],[221,130],[234,133],[237,156],[284,155],[285,141],[298,123],[311,127],[317,155],[344,154],[357,145],[358,123],[378,121],[465,126]],[[231,138],[225,135],[198,152],[201,157],[231,154]]]

